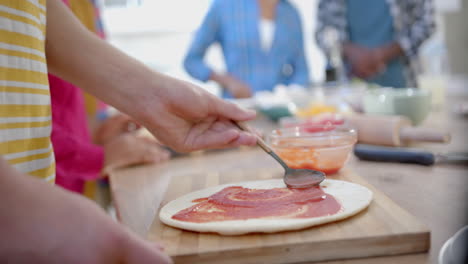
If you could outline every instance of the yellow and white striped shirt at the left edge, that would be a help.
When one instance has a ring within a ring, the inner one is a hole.
[[[46,0],[0,0],[0,155],[53,182],[45,26]]]

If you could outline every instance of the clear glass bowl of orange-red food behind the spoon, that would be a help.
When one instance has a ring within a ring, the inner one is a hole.
[[[357,133],[347,123],[305,122],[273,130],[268,141],[291,168],[313,169],[331,175],[349,159]]]

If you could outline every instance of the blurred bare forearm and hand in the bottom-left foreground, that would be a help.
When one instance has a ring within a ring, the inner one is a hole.
[[[22,175],[1,159],[0,169],[2,263],[172,263],[160,246],[90,200]]]

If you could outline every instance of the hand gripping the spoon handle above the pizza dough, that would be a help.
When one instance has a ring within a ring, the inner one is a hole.
[[[252,133],[240,131],[232,123],[255,118],[254,111],[170,77],[158,85],[160,89],[152,90],[154,96],[141,98],[140,109],[148,111],[140,120],[162,144],[177,152],[255,145]]]

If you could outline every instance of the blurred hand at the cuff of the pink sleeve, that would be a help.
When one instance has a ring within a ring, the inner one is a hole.
[[[132,133],[121,134],[104,145],[103,173],[134,164],[159,163],[169,158],[169,151],[156,141]]]

